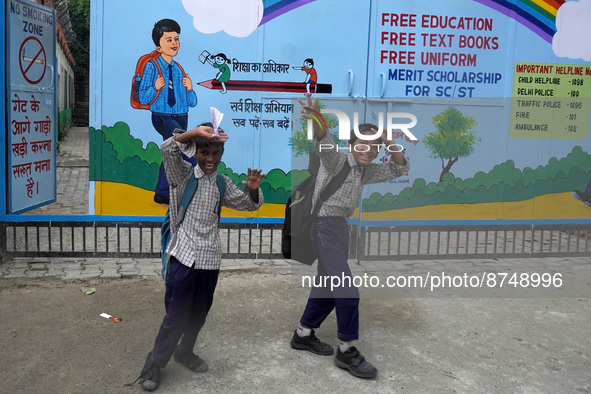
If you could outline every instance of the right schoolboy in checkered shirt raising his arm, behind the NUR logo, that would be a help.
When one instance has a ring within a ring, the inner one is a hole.
[[[314,119],[311,110],[318,109],[318,99],[312,102],[309,93],[307,96],[307,105],[300,101],[302,117]],[[371,134],[374,138],[362,140],[352,131],[349,140],[351,150],[349,153],[343,153],[334,146],[330,133],[319,127],[318,123],[314,123],[314,142],[322,163],[313,195],[314,204],[318,202],[320,191],[339,173],[345,162],[351,167],[343,184],[321,206],[312,226],[311,246],[318,252],[318,276],[322,278],[351,278],[347,262],[349,227],[346,219],[357,208],[363,186],[397,178],[406,174],[410,167],[408,159],[401,152],[392,152],[389,163],[372,163],[381,144],[393,146],[394,140],[387,139],[385,130],[378,133],[375,125],[362,124],[358,128],[360,133]],[[333,149],[326,149],[330,145],[333,145]],[[320,146],[325,149],[321,149]],[[314,329],[320,327],[333,310],[337,315],[339,338],[336,365],[360,378],[377,376],[377,369],[353,346],[354,341],[359,338],[359,290],[354,286],[341,286],[332,291],[312,287],[300,324],[293,334],[291,347],[323,356],[332,355],[332,346],[321,342],[316,337]]]

